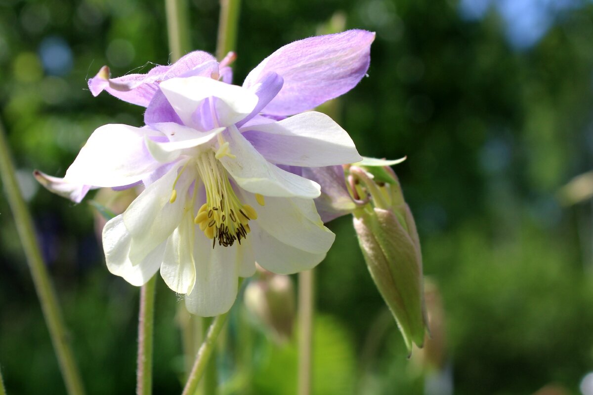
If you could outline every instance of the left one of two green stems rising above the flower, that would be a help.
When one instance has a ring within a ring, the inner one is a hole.
[[[167,13],[167,32],[171,62],[175,62],[190,50],[189,30],[187,30],[187,0],[165,0]]]

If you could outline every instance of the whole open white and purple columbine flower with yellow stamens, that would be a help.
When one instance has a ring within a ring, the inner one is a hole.
[[[260,113],[283,118],[343,94],[364,76],[373,39],[347,31],[288,44],[243,86],[225,82],[228,66],[203,52],[146,75],[109,79],[102,69],[91,92],[145,105],[146,126],[98,128],[65,177],[44,185],[78,199],[90,187],[142,182],[144,192],[104,227],[107,267],[133,285],[160,269],[189,311],[223,313],[255,261],[289,274],[318,264],[333,243],[313,203],[319,185],[282,167],[361,159],[327,115]]]

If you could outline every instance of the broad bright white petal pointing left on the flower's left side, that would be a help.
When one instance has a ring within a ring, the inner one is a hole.
[[[148,153],[145,136],[162,134],[123,124],[101,126],[91,134],[64,179],[95,187],[119,187],[139,181],[161,166]]]

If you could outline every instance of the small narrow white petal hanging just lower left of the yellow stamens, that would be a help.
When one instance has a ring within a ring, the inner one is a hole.
[[[196,280],[192,229],[195,224],[193,216],[188,214],[168,238],[161,265],[162,279],[178,294],[190,293]]]

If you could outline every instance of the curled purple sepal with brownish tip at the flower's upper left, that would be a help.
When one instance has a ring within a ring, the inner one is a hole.
[[[161,81],[177,76],[211,76],[213,72],[218,73],[216,59],[207,52],[195,51],[181,57],[171,66],[155,66],[146,74],[110,78],[109,68],[103,66],[97,75],[88,80],[88,88],[93,96],[105,90],[123,101],[147,107]]]

